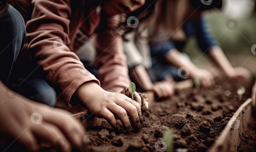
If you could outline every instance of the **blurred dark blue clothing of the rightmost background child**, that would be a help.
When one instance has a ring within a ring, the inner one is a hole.
[[[188,39],[191,36],[195,36],[197,39],[197,44],[203,52],[206,52],[210,47],[218,45],[215,42],[215,39],[211,36],[210,31],[207,27],[205,19],[202,17],[200,19],[188,19],[184,25],[183,30]],[[165,42],[154,42],[150,46],[152,60],[154,61],[152,69],[154,71],[155,77],[158,80],[164,79],[168,75],[173,75],[174,79],[180,80],[177,77],[177,68],[170,66],[169,63],[165,60],[166,53],[176,48],[181,51],[186,44],[185,42],[167,40]],[[176,71],[175,71],[176,70]]]

